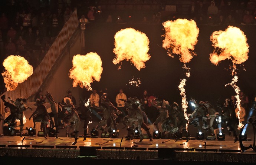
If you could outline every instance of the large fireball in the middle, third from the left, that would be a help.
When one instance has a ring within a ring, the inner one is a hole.
[[[113,52],[116,58],[113,63],[116,65],[123,60],[130,60],[134,66],[141,70],[145,67],[145,62],[150,59],[148,54],[149,40],[145,33],[132,28],[126,28],[115,34],[115,48]],[[119,69],[121,68],[119,66]]]

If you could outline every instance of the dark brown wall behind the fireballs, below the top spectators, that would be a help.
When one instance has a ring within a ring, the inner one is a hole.
[[[145,63],[146,67],[138,71],[130,62],[123,61],[121,69],[114,65],[112,60],[115,54],[114,36],[121,29],[132,27],[145,33],[150,40],[149,54],[151,58]],[[238,67],[240,73],[237,85],[249,96],[249,100],[255,97],[255,52],[256,52],[256,31],[255,26],[238,26],[243,30],[249,44],[249,59],[244,62],[244,68]],[[231,86],[224,85],[232,81],[229,66],[231,60],[222,61],[218,66],[213,65],[210,60],[210,53],[213,52],[211,46],[211,33],[217,30],[225,30],[227,26],[209,26],[198,25],[200,29],[198,42],[194,52],[197,56],[187,63],[190,67],[191,76],[186,82],[187,99],[195,98],[200,101],[209,101],[216,105],[218,98],[230,98],[235,95]],[[92,87],[95,89],[108,88],[110,99],[115,102],[114,98],[120,88],[124,89],[127,97],[142,97],[143,90],[148,90],[151,95],[159,96],[161,99],[167,99],[169,102],[181,102],[178,85],[180,79],[185,78],[185,70],[182,68],[183,63],[179,61],[179,56],[171,58],[167,51],[162,47],[164,37],[162,25],[152,24],[87,24],[86,25],[86,53],[96,52],[102,59],[103,72],[100,82],[93,82]],[[139,88],[129,85],[132,77],[141,79]],[[128,84],[128,85],[127,85]],[[90,92],[84,91],[85,96]]]

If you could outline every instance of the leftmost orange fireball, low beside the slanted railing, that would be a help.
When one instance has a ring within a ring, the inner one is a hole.
[[[7,91],[16,89],[18,83],[23,83],[33,74],[33,67],[24,57],[10,55],[4,60],[3,66],[5,71],[2,75]]]

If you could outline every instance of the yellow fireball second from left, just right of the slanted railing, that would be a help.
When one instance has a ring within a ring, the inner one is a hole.
[[[72,60],[73,67],[69,70],[70,79],[74,79],[73,87],[85,87],[92,90],[91,83],[101,79],[103,71],[101,57],[90,52],[86,55],[75,55]]]

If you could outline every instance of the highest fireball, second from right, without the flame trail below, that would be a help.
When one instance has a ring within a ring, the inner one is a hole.
[[[196,56],[193,52],[199,33],[196,22],[177,19],[164,22],[163,26],[165,29],[163,47],[168,50],[168,55],[173,57],[173,53],[178,54],[181,62],[190,62],[193,56]]]

